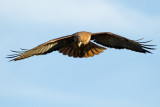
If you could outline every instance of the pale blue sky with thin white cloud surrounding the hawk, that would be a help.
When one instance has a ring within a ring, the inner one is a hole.
[[[160,107],[159,0],[0,0],[0,107]],[[8,62],[78,31],[153,40],[154,54],[107,49],[93,58],[53,52]]]

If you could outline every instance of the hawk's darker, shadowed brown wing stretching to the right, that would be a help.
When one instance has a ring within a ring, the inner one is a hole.
[[[155,49],[152,48],[152,46],[155,45],[144,44],[150,41],[138,42],[110,32],[92,33],[91,40],[94,40],[94,42],[106,47],[115,49],[129,49],[141,53],[151,53],[149,50]]]

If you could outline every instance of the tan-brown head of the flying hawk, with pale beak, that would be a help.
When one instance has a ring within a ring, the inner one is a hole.
[[[75,34],[74,41],[79,47],[89,43],[91,34],[89,32],[78,32]]]

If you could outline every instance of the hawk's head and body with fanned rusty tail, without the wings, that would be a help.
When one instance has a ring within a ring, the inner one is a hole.
[[[77,57],[93,57],[94,55],[98,55],[103,52],[106,48],[98,46],[92,42],[90,32],[77,32],[73,34],[74,41],[69,45],[66,45],[60,48],[59,52],[63,53],[63,55]]]

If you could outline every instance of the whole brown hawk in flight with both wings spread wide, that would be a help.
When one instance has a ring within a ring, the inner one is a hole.
[[[88,58],[102,53],[103,50],[106,50],[105,47],[151,53],[149,50],[155,49],[152,48],[155,45],[145,45],[148,42],[150,41],[130,40],[111,32],[91,33],[82,31],[50,40],[30,50],[12,51],[16,54],[9,55],[8,58],[12,58],[11,61],[17,61],[34,55],[45,55],[53,51],[59,51],[63,55],[74,58]]]

